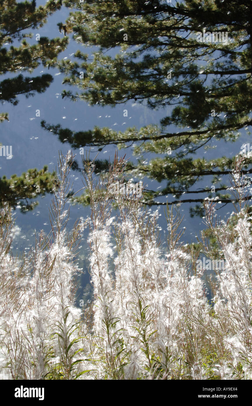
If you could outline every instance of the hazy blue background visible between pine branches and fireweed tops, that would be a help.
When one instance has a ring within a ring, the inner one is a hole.
[[[44,4],[44,2],[37,2],[37,5]],[[41,36],[47,36],[50,38],[59,37],[64,34],[60,34],[58,31],[57,23],[64,22],[67,18],[69,11],[65,8],[56,12],[49,17],[48,23],[39,30],[34,30],[34,36],[28,41],[35,42],[35,34],[39,33]],[[77,44],[70,37],[70,42],[67,50],[60,54],[59,58],[69,58],[72,54],[82,48],[85,53],[92,54],[92,49],[84,49],[81,45]],[[58,72],[57,69],[43,69],[40,67],[32,72],[31,76],[37,76],[39,73],[50,73],[54,76],[54,82],[47,91],[41,95],[35,95],[34,97],[19,96],[19,104],[12,106],[5,103],[1,106],[2,112],[9,112],[9,123],[5,121],[0,125],[0,142],[2,145],[13,146],[13,158],[7,160],[5,157],[0,157],[0,176],[6,175],[10,177],[16,173],[21,175],[22,172],[27,171],[29,168],[43,168],[46,164],[50,171],[55,169],[58,159],[58,151],[61,149],[65,154],[67,149],[70,148],[68,144],[62,144],[58,141],[57,137],[41,128],[41,120],[45,120],[48,123],[58,124],[63,127],[69,127],[72,130],[88,130],[93,129],[95,125],[100,127],[106,126],[114,130],[125,130],[129,126],[136,126],[138,128],[149,123],[159,123],[159,120],[168,114],[167,108],[154,111],[148,109],[146,106],[135,104],[134,102],[128,102],[127,104],[117,106],[116,108],[98,106],[90,107],[86,102],[71,102],[70,100],[61,98],[61,92],[63,89],[67,89],[66,85],[62,85],[63,75]],[[29,76],[29,73],[23,72],[25,76]],[[8,74],[5,77],[11,77],[13,75]],[[15,75],[16,76],[16,75]],[[3,79],[3,76],[2,78]],[[123,110],[127,108],[128,117],[123,117]],[[36,117],[36,110],[40,110],[40,117]],[[170,127],[169,130],[174,130]],[[179,131],[177,129],[176,131]],[[200,150],[198,156],[202,156],[207,153],[207,158],[218,158],[222,155],[234,155],[240,151],[243,143],[249,142],[248,136],[245,132],[242,132],[241,138],[236,143],[224,143],[223,141],[216,141],[212,145],[216,145],[216,149]],[[113,146],[106,147],[100,152],[99,158],[113,157],[115,148]],[[77,160],[80,162],[80,151],[73,151],[77,154]],[[93,154],[96,155],[96,149],[93,149]],[[121,155],[127,153],[126,158],[132,159],[132,151],[130,149],[123,149]],[[151,155],[146,155],[145,159],[148,160]],[[197,156],[197,155],[194,155]],[[134,158],[136,159],[136,158]],[[74,181],[74,188],[78,190],[82,187],[81,174],[78,172],[72,172],[71,175]],[[207,182],[198,183],[195,188],[202,188],[211,186],[211,177],[208,177]],[[159,187],[155,181],[145,179],[149,188]],[[165,183],[164,183],[165,184]],[[163,185],[164,185],[163,184]],[[195,195],[194,195],[195,196]],[[190,195],[187,195],[190,197]],[[203,197],[202,197],[203,198]],[[171,196],[168,197],[172,199]],[[21,214],[19,210],[15,212],[17,216],[16,224],[21,227],[22,238],[18,239],[14,245],[15,248],[25,248],[30,244],[33,244],[32,234],[34,229],[39,231],[44,229],[49,231],[49,218],[48,218],[48,206],[50,205],[51,196],[47,195],[43,198],[39,198],[39,205],[33,212],[27,212]],[[161,199],[160,199],[161,201]],[[164,198],[162,198],[164,201]],[[186,227],[184,234],[184,241],[195,241],[195,235],[199,233],[199,230],[204,228],[202,219],[190,218],[189,215],[190,204],[183,204],[180,207],[180,212],[185,216],[183,227]],[[153,207],[155,210],[157,207]],[[160,212],[163,214],[164,209],[161,207]],[[220,209],[218,213],[224,216],[227,212],[232,212],[231,205]],[[70,224],[71,225],[77,217],[86,217],[89,214],[88,207],[72,206],[70,212]],[[164,215],[160,218],[160,225],[164,231],[166,231],[166,220]],[[86,267],[86,257],[88,255],[87,245],[83,242],[81,249],[82,265]],[[85,281],[88,281],[88,274],[86,274]],[[84,281],[84,285],[85,282]]]

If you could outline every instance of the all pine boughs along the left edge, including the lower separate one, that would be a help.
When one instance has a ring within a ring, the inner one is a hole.
[[[0,1],[0,75],[16,74],[0,82],[0,102],[13,105],[18,103],[18,95],[33,96],[43,93],[52,83],[49,73],[40,76],[24,76],[42,65],[55,67],[57,56],[65,50],[68,39],[47,37],[35,38],[29,30],[42,27],[47,17],[61,8],[61,1],[48,1],[45,6],[36,7],[36,1],[17,2]],[[32,39],[32,41],[29,41]],[[32,42],[32,43],[31,43]],[[8,120],[8,113],[0,114],[0,121]],[[8,202],[23,211],[31,210],[37,203],[32,201],[39,194],[52,192],[54,174],[41,170],[29,169],[21,176],[13,175],[11,179],[0,178],[0,204]],[[39,187],[39,188],[38,188]]]

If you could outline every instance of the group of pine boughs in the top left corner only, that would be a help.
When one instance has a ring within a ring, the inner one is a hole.
[[[36,7],[36,2],[0,1],[0,74],[21,71],[32,72],[39,65],[55,66],[57,55],[67,46],[67,39],[40,37],[35,41],[29,29],[42,27],[49,15],[60,9],[61,1],[49,1],[45,6]],[[26,38],[33,38],[30,44]],[[13,45],[21,42],[21,45]],[[24,77],[19,73],[15,78],[0,82],[0,101],[17,104],[17,95],[27,97],[44,92],[52,83],[52,75],[46,73],[37,77]]]

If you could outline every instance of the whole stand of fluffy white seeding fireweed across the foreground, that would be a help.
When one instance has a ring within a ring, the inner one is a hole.
[[[20,257],[11,252],[15,225],[11,208],[0,217],[0,374],[2,379],[251,379],[251,225],[246,201],[246,157],[232,168],[235,225],[217,220],[215,202],[205,201],[208,233],[200,248],[181,242],[181,216],[166,208],[166,249],[160,214],[145,209],[141,197],[114,194],[113,184],[127,164],[114,157],[108,172],[94,179],[95,162],[85,160],[84,184],[90,218],[69,219],[73,155],[60,155],[59,188],[50,207],[52,230],[35,235]],[[88,158],[88,157],[87,157]],[[237,203],[238,202],[238,203]],[[116,204],[116,211],[114,211]],[[93,302],[74,307],[76,255],[89,227]],[[219,247],[209,243],[209,231]],[[209,301],[204,253],[225,260],[210,278]]]

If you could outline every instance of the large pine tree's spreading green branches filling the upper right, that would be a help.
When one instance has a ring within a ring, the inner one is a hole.
[[[99,106],[123,106],[131,100],[164,108],[166,115],[160,125],[125,132],[98,127],[74,132],[45,122],[43,127],[74,148],[134,145],[140,159],[127,166],[128,174],[166,181],[158,192],[149,190],[147,204],[157,204],[159,195],[171,195],[170,203],[198,203],[194,214],[202,212],[201,196],[230,202],[222,178],[235,158],[220,156],[217,149],[216,158],[207,159],[207,151],[218,141],[237,140],[239,130],[248,130],[252,123],[251,1],[70,0],[65,5],[73,9],[65,23],[67,32],[98,50],[93,56],[79,50],[75,60],[60,62],[63,83],[80,89],[64,91],[62,97]],[[205,41],[199,42],[203,30]],[[200,151],[202,156],[195,158]],[[147,153],[157,157],[148,160]],[[251,173],[251,160],[246,168]],[[197,189],[199,180],[206,186]]]

